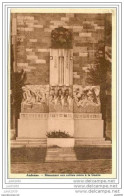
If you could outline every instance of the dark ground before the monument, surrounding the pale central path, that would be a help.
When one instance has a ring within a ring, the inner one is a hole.
[[[46,148],[11,149],[12,173],[90,173],[112,172],[111,148],[76,148],[77,161],[45,163]]]

